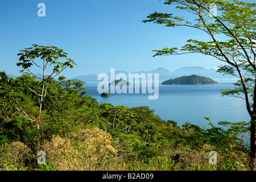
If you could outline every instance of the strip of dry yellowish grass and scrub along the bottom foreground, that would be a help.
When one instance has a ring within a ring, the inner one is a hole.
[[[79,130],[70,138],[53,136],[37,151],[45,151],[46,165],[37,165],[37,154],[21,142],[0,146],[0,170],[246,170],[246,154],[217,151],[217,165],[209,164],[209,151],[213,146],[204,145],[200,150],[186,147],[165,147],[159,156],[147,161],[138,160],[125,140],[111,137],[94,128]],[[230,161],[229,161],[230,160]]]

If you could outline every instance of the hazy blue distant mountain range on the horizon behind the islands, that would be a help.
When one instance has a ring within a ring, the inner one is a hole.
[[[128,72],[126,71],[115,71],[115,75],[117,75],[118,73],[124,73],[127,77],[129,75]],[[205,77],[209,77],[211,79],[221,79],[221,78],[235,78],[234,76],[230,76],[230,75],[225,75],[223,76],[222,73],[218,73],[217,69],[206,69],[203,67],[183,67],[183,68],[179,68],[173,72],[170,72],[169,70],[159,67],[157,69],[153,69],[151,71],[139,71],[139,72],[131,72],[131,73],[138,73],[139,75],[141,73],[145,73],[147,75],[147,73],[152,73],[154,75],[154,73],[159,73],[159,80],[169,80],[171,78],[177,78],[177,77],[181,77],[181,76],[190,76],[190,75],[199,75],[199,76],[205,76]],[[107,75],[110,77],[110,72],[107,73]],[[91,74],[91,75],[80,75],[71,79],[78,79],[81,81],[97,81],[97,75],[95,74]]]

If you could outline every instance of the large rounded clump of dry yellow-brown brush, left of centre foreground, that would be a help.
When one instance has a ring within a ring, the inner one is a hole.
[[[46,161],[57,170],[101,170],[116,154],[112,137],[101,129],[85,129],[73,133],[72,140],[54,136],[43,150]]]

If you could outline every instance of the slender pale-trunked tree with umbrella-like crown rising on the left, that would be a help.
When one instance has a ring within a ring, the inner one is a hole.
[[[22,109],[22,107],[15,106],[23,115],[25,118],[29,119],[30,121],[35,121],[39,123],[41,119],[41,111],[42,111],[42,104],[43,100],[46,97],[47,89],[49,82],[53,80],[54,77],[59,75],[62,71],[64,71],[67,67],[73,68],[73,65],[76,65],[74,61],[67,57],[67,53],[63,52],[62,49],[59,49],[54,46],[38,46],[36,44],[32,45],[33,47],[25,48],[24,50],[21,50],[20,53],[18,53],[19,57],[19,63],[17,63],[17,66],[22,66],[23,69],[26,69],[31,75],[33,75],[36,79],[41,80],[41,88],[40,86],[36,87],[33,84],[27,84],[27,88],[31,92],[35,94],[35,96],[38,97],[38,103],[39,103],[39,117],[38,119],[31,119],[29,115],[26,114],[26,112]],[[66,58],[65,61],[58,61],[60,58]],[[39,61],[42,61],[41,63],[38,63]],[[42,78],[39,78],[35,75],[35,73],[30,71],[30,67],[32,65],[35,65],[38,68],[42,69]],[[50,75],[46,75],[46,68],[52,67],[52,71],[50,72]],[[22,70],[23,72],[23,70]],[[30,75],[30,74],[27,75]],[[18,103],[17,103],[18,104]],[[38,130],[39,130],[39,124],[37,124]]]

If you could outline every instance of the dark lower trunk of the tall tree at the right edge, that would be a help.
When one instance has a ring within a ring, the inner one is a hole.
[[[251,116],[250,170],[256,171],[256,117]]]

